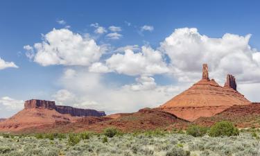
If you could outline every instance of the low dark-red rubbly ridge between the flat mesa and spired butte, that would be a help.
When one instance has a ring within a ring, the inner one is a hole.
[[[115,127],[123,132],[135,132],[141,130],[186,128],[189,121],[177,118],[168,112],[145,108],[139,112],[123,114],[116,119],[110,117],[84,117],[76,122],[56,122],[48,125],[24,128],[19,132],[101,132],[105,128]]]

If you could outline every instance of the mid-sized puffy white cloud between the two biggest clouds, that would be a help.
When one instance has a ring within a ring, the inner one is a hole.
[[[139,53],[134,53],[130,49],[125,50],[123,54],[116,53],[106,60],[106,64],[111,70],[129,76],[168,72],[162,54],[148,46],[142,46]]]

